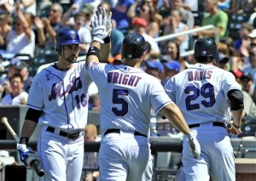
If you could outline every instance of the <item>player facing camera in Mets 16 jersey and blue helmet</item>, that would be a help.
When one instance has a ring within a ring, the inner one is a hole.
[[[68,28],[56,32],[54,65],[40,71],[32,82],[21,130],[20,160],[27,166],[32,160],[26,143],[37,124],[38,158],[45,175],[41,180],[79,181],[84,158],[84,127],[88,115],[88,87],[85,62],[79,56],[79,34]]]

